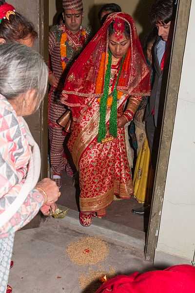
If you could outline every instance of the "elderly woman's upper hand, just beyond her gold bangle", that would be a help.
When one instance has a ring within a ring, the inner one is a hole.
[[[44,192],[47,195],[47,199],[44,203],[44,205],[46,206],[52,206],[52,204],[54,204],[58,198],[59,198],[59,188],[56,184],[55,181],[51,180],[50,178],[44,178],[43,180],[41,180],[37,186],[35,188],[40,188],[38,189],[39,192],[42,192],[43,196],[45,197]],[[41,189],[44,191],[41,191]]]

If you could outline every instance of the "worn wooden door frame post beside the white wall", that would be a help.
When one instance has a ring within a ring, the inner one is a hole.
[[[191,0],[178,0],[171,61],[167,76],[165,77],[166,86],[164,87],[165,105],[163,124],[161,128],[153,199],[145,247],[145,258],[149,261],[154,261],[157,246],[190,8]]]

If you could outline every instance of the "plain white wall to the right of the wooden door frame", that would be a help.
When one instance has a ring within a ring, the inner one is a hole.
[[[195,251],[195,1],[192,1],[156,254]]]

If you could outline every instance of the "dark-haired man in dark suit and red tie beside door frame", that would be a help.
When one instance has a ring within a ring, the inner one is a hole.
[[[154,84],[145,111],[145,127],[148,144],[151,151],[151,163],[153,173],[156,169],[159,138],[164,110],[164,97],[161,93],[162,82],[166,67],[169,66],[169,53],[172,43],[172,28],[176,16],[176,0],[156,0],[151,10],[151,22],[158,30],[158,37],[153,45],[153,74]],[[149,201],[149,199],[147,199]],[[150,206],[142,206],[132,211],[137,214],[144,214]]]

